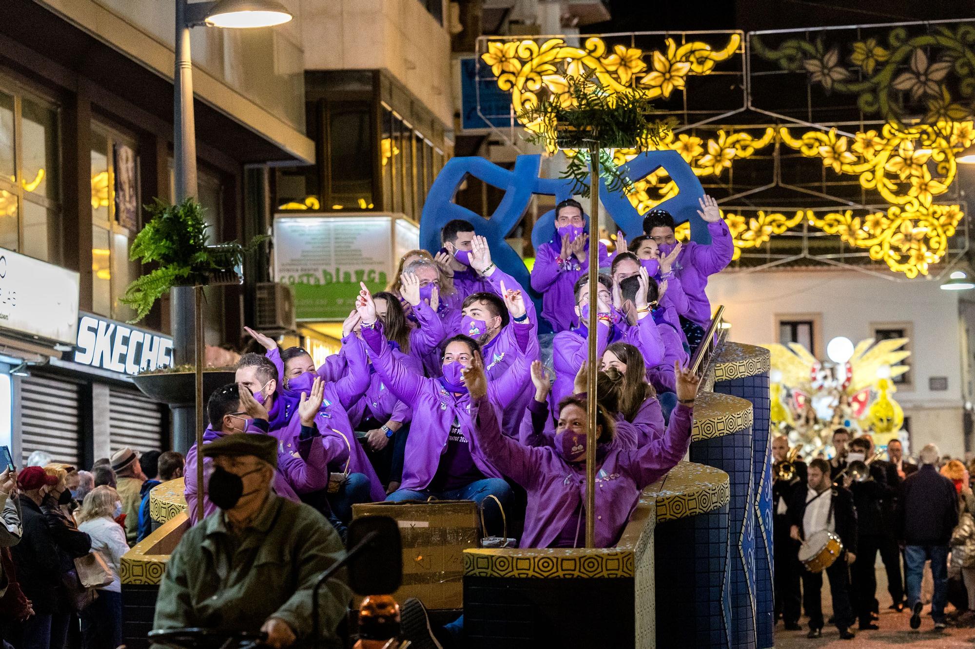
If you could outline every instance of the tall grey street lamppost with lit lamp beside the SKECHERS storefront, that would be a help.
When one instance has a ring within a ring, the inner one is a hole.
[[[208,25],[228,28],[270,27],[291,20],[292,14],[275,0],[219,0],[215,2],[188,3],[176,0],[176,66],[173,74],[173,149],[176,175],[176,203],[197,195],[196,183],[196,128],[193,122],[193,62],[190,57],[190,29]],[[172,291],[170,323],[173,328],[174,359],[177,365],[194,363],[201,359],[194,344],[194,311],[203,318],[201,310],[194,308],[193,286],[182,286]],[[197,392],[202,386],[197,386]],[[197,404],[197,416],[202,405]],[[197,421],[188,405],[173,408],[173,439],[176,448],[186,451],[196,437],[193,429]],[[200,431],[197,431],[199,434]]]

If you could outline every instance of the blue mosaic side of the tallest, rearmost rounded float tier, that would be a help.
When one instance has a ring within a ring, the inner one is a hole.
[[[769,436],[768,373],[746,376],[715,384],[715,392],[752,401],[755,485],[755,597],[756,633],[759,647],[773,647],[775,641],[775,603],[772,579],[772,458]]]

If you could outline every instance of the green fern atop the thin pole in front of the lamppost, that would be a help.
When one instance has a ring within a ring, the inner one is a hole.
[[[174,286],[239,281],[236,268],[244,263],[244,255],[267,239],[263,235],[254,237],[246,247],[237,242],[208,246],[204,209],[193,198],[178,205],[156,199],[145,209],[152,218],[136,235],[129,258],[157,267],[130,284],[121,298],[136,310],[130,324],[145,318],[156,300]]]

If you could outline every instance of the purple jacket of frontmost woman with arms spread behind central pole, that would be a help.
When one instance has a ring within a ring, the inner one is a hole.
[[[679,403],[671,413],[663,438],[637,450],[614,448],[606,454],[596,476],[596,547],[616,544],[640,500],[641,491],[673,469],[690,445],[693,409]],[[528,496],[522,548],[548,548],[569,518],[585,507],[586,472],[582,464],[565,462],[549,447],[527,447],[501,434],[494,405],[489,400],[471,403],[474,435],[471,451],[523,487]]]

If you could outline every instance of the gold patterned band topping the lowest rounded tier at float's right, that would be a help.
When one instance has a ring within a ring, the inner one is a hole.
[[[731,497],[726,473],[695,462],[679,463],[648,491],[656,498],[658,523],[714,512]]]

